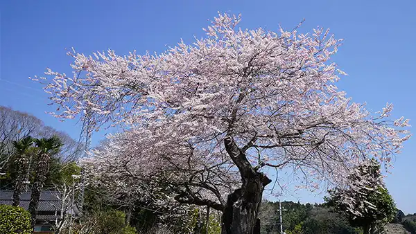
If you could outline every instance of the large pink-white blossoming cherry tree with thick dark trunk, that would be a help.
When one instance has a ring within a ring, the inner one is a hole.
[[[219,14],[206,37],[155,55],[73,50],[72,76],[34,79],[46,80],[54,116],[126,129],[94,152],[92,172],[120,186],[164,174],[177,201],[221,210],[223,233],[258,233],[265,168],[291,168],[309,188],[341,184],[367,156],[388,167],[410,133],[392,105],[372,114],[338,91],[341,40],[329,30],[240,20]]]

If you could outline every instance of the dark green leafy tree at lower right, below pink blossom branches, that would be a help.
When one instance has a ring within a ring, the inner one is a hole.
[[[329,190],[330,206],[344,214],[364,234],[374,233],[392,221],[397,214],[395,201],[383,182],[379,163],[372,159],[352,170],[347,186]]]

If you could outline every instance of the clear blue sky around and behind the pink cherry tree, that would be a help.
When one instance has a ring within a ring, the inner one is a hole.
[[[151,2],[151,3],[150,3]],[[416,125],[416,1],[1,1],[0,105],[27,111],[47,125],[77,137],[74,121],[61,123],[50,111],[40,86],[28,80],[46,66],[67,71],[65,48],[90,54],[112,48],[124,54],[164,51],[183,38],[192,42],[217,11],[239,14],[244,28],[331,28],[344,38],[334,60],[349,76],[339,83],[356,102],[379,110],[395,104],[396,117]],[[97,134],[97,143],[103,133]],[[416,136],[410,138],[386,179],[405,213],[416,213]],[[322,195],[299,192],[291,199],[321,201]]]

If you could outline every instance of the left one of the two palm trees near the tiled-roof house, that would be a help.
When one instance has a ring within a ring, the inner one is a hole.
[[[13,141],[13,146],[16,150],[16,167],[17,167],[17,177],[15,181],[15,190],[13,191],[12,197],[12,206],[19,206],[20,204],[20,194],[21,190],[24,187],[24,182],[26,179],[26,174],[28,172],[28,149],[33,145],[33,138],[31,136],[26,136],[20,141]]]

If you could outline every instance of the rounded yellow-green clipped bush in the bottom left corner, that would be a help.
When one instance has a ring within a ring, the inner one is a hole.
[[[31,214],[21,207],[0,205],[0,233],[32,233]]]

